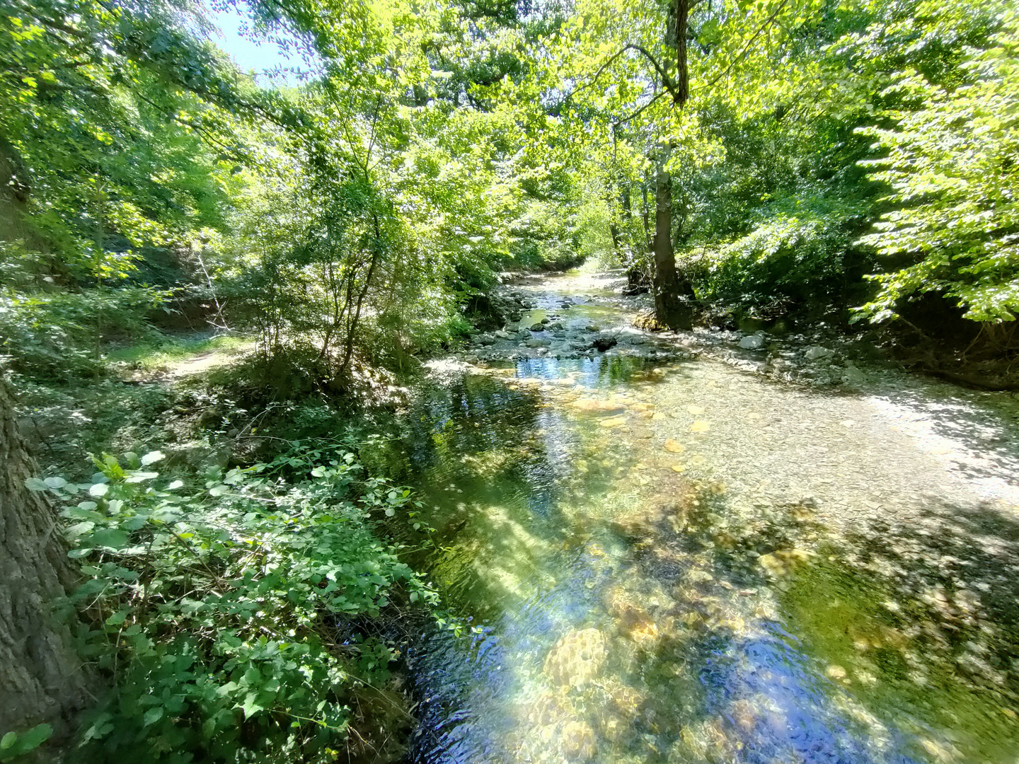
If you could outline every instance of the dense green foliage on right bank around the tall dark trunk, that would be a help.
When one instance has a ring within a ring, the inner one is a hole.
[[[702,298],[751,314],[866,304],[861,315],[886,321],[935,292],[969,319],[1012,319],[1014,11],[680,6],[682,105],[673,6],[578,4],[552,41],[556,67],[534,79],[574,140],[601,152],[624,262],[653,271],[665,162],[678,257]]]

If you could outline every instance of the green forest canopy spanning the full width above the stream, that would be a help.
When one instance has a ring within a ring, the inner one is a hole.
[[[6,352],[92,373],[173,313],[343,379],[469,331],[502,270],[592,256],[749,314],[1011,322],[1007,6],[238,6],[304,49],[286,86],[200,5],[5,0]]]

